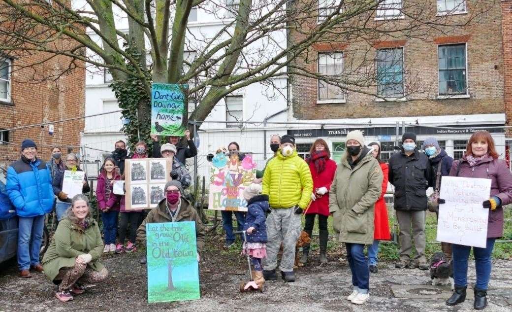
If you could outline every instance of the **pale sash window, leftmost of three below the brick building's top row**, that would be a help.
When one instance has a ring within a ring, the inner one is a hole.
[[[327,77],[340,77],[343,74],[343,52],[319,53],[318,73]],[[318,80],[318,99],[344,99],[342,88],[329,82]]]

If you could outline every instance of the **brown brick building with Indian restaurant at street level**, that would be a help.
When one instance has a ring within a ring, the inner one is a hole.
[[[329,13],[329,4],[336,3],[312,0],[309,5],[319,6],[322,15]],[[308,3],[296,1],[295,5]],[[474,127],[503,126],[504,103],[507,96],[508,102],[512,100],[510,86],[504,92],[504,84],[512,84],[504,79],[507,70],[512,73],[512,59],[504,63],[502,55],[503,49],[506,55],[512,48],[511,39],[502,38],[502,28],[512,33],[512,1],[502,6],[509,14],[503,27],[498,0],[385,0],[376,10],[341,23],[346,31],[368,20],[367,29],[376,31],[373,36],[346,35],[348,40],[322,37],[297,58],[296,65],[309,72],[343,80],[339,88],[314,77],[292,76],[293,118],[324,123],[288,131],[297,137],[299,152],[309,149],[314,138],[323,137],[339,157],[345,149],[344,136],[357,128],[365,131],[369,142],[381,142],[383,159],[387,159],[396,144],[394,125],[399,123],[401,135],[405,122],[419,141],[435,136],[449,155],[461,157]],[[311,19],[309,25],[322,23],[317,16]],[[410,30],[412,35],[390,31],[418,24],[413,19],[435,23],[437,29],[418,26]],[[298,42],[304,32],[292,31],[289,40]],[[508,53],[512,55],[512,50]],[[512,110],[512,102],[507,110]],[[503,129],[488,129],[504,156]]]

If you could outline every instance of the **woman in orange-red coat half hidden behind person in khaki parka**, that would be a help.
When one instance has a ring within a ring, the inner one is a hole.
[[[379,240],[391,240],[391,234],[389,232],[389,221],[388,221],[388,208],[386,207],[386,200],[384,195],[388,189],[388,165],[380,160],[380,145],[377,142],[368,144],[369,147],[373,147],[372,156],[375,157],[382,169],[384,179],[382,180],[382,193],[379,199],[375,203],[375,231],[373,234],[373,244],[368,246],[368,262],[370,265],[370,272],[377,273],[377,254],[379,252]]]

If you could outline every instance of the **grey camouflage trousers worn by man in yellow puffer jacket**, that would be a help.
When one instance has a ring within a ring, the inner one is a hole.
[[[278,253],[283,244],[283,256],[279,269],[292,272],[295,262],[295,245],[301,235],[301,215],[291,208],[272,208],[265,222],[267,225],[267,257],[263,259],[263,269],[271,271],[278,266]]]

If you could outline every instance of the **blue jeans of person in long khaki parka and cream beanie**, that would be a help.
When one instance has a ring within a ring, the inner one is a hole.
[[[352,285],[358,288],[360,294],[368,294],[370,290],[370,269],[365,257],[365,245],[345,243],[347,261],[352,272]]]

